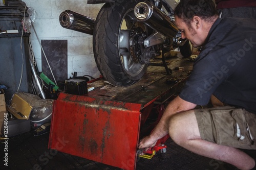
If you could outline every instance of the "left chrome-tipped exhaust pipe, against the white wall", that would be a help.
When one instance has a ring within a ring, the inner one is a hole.
[[[63,28],[93,35],[95,19],[66,10],[60,13],[59,23]]]

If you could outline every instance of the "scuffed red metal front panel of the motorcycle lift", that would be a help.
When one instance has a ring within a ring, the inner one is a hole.
[[[49,148],[135,169],[140,108],[140,104],[61,93],[54,102]],[[56,147],[62,138],[68,140],[65,147]]]

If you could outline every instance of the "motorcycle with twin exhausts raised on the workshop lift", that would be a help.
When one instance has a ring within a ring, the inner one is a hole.
[[[191,55],[189,41],[181,38],[174,8],[179,0],[88,0],[105,3],[96,20],[70,10],[59,16],[63,28],[93,35],[95,62],[101,75],[115,86],[130,86],[145,74],[150,60],[179,47]]]

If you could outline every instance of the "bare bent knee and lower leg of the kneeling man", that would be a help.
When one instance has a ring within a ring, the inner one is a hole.
[[[181,147],[196,154],[227,162],[239,169],[251,169],[254,160],[239,149],[201,139],[193,110],[174,115],[169,122],[169,135]]]

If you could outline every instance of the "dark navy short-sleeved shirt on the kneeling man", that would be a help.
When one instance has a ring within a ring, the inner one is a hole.
[[[196,58],[180,98],[221,102],[256,114],[256,20],[218,18]]]

